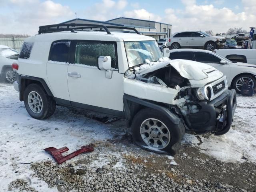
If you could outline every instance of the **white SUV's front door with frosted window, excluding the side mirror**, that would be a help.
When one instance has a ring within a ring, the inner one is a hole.
[[[67,75],[72,106],[106,113],[123,112],[124,74],[118,72],[116,42],[72,41],[71,47]],[[111,78],[98,69],[99,56],[111,57]]]

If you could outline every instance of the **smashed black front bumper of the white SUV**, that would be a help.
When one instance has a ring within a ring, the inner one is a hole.
[[[184,116],[187,131],[198,134],[212,132],[222,135],[229,131],[236,110],[236,91],[226,90],[209,102],[198,102],[199,111]]]

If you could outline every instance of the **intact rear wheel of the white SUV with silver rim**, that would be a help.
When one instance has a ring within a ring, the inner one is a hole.
[[[50,117],[56,107],[54,99],[44,92],[38,84],[30,84],[24,91],[25,108],[35,119],[45,119]]]

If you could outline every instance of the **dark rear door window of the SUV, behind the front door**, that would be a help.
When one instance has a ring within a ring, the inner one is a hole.
[[[68,51],[70,41],[58,41],[52,44],[49,60],[58,62],[68,62]]]

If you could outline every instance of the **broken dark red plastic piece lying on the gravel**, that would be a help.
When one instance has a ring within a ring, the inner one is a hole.
[[[54,157],[54,159],[57,161],[58,164],[61,164],[63,162],[65,162],[68,159],[71,159],[81,153],[84,152],[93,152],[94,148],[92,145],[86,145],[86,146],[82,146],[81,149],[70,153],[67,156],[62,156],[62,153],[68,151],[69,149],[67,147],[62,147],[60,149],[56,149],[54,147],[48,147],[44,149],[45,151],[49,152],[50,154],[52,154],[52,156]]]

